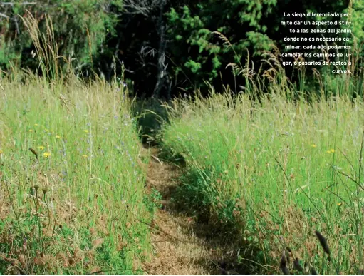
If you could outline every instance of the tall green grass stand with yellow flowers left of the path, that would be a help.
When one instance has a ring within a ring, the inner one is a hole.
[[[126,91],[25,80],[0,80],[0,274],[142,273],[155,206]]]

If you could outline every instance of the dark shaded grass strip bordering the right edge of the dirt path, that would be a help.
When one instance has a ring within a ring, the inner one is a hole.
[[[252,240],[244,239],[244,223],[237,225],[218,218],[198,188],[197,173],[189,170],[183,156],[163,148],[160,143],[157,158],[164,163],[173,164],[179,172],[172,180],[174,184],[159,189],[162,200],[168,202],[166,210],[178,217],[191,218],[192,222],[188,225],[180,223],[183,231],[196,235],[206,247],[215,248],[219,252],[211,259],[202,256],[199,264],[209,264],[205,268],[213,275],[267,274],[258,265],[264,263],[258,245]]]

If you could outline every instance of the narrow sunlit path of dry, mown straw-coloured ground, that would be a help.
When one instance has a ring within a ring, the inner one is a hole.
[[[157,210],[152,229],[154,257],[144,264],[150,275],[210,275],[224,270],[214,260],[221,255],[218,245],[197,233],[192,218],[173,210],[171,193],[177,187],[180,174],[177,165],[159,160],[157,148],[150,148],[150,164],[147,170],[147,189],[155,188],[162,195],[162,209]],[[147,153],[145,149],[145,153]]]

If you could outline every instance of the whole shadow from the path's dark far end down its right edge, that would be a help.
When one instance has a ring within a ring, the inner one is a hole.
[[[157,158],[165,163],[175,165],[181,172],[175,182],[160,188],[162,200],[167,200],[171,213],[193,218],[191,225],[180,226],[184,231],[197,235],[199,239],[211,248],[223,248],[221,254],[210,260],[210,267],[206,267],[213,274],[222,275],[251,275],[267,274],[261,270],[264,257],[259,245],[253,240],[244,239],[244,223],[236,223],[218,218],[209,203],[209,199],[201,190],[201,183],[197,172],[186,166],[183,155],[175,153],[162,143],[162,124],[168,123],[167,109],[157,100],[137,101],[132,106],[132,115],[137,119],[140,140],[145,148],[158,148]],[[206,263],[206,260],[201,260]]]

